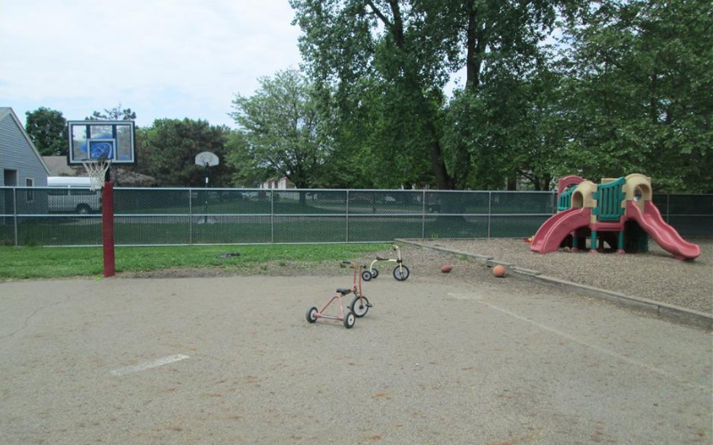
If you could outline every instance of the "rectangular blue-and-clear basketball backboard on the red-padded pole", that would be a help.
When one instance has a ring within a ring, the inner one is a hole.
[[[70,166],[100,158],[111,159],[112,164],[135,164],[133,120],[70,120],[67,124]]]

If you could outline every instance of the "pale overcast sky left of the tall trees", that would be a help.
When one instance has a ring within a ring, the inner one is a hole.
[[[0,0],[0,106],[234,127],[234,93],[299,68],[292,17],[288,0]]]

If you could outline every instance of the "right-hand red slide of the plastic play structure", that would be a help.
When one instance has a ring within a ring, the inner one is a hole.
[[[654,239],[660,247],[668,250],[676,260],[693,260],[701,255],[701,247],[681,238],[676,229],[669,226],[657,206],[651,201],[644,201],[643,212],[634,201],[627,202],[627,217],[639,223],[641,228]]]

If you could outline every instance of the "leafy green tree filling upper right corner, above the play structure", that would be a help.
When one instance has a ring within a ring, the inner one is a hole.
[[[604,1],[568,23],[563,164],[642,173],[657,190],[713,190],[710,5]]]

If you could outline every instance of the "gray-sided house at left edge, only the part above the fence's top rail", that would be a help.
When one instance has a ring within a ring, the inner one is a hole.
[[[0,186],[46,187],[50,171],[20,119],[0,107]]]

